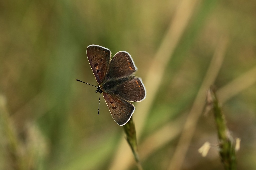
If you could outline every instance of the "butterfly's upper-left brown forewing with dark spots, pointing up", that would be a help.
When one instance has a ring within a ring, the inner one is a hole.
[[[106,76],[111,51],[99,45],[89,45],[87,47],[87,57],[97,82],[101,84]]]

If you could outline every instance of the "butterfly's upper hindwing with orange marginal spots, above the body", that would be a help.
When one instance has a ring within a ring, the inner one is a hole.
[[[119,78],[133,74],[137,70],[132,56],[126,51],[119,51],[111,59],[107,71],[108,78]]]

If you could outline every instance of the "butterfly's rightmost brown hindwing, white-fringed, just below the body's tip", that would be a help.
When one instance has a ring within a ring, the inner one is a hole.
[[[119,85],[114,94],[126,101],[140,102],[146,98],[146,88],[142,79],[137,77]]]

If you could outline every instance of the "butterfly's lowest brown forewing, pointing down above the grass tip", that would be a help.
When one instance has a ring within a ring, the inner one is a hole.
[[[103,96],[115,122],[120,126],[125,125],[135,111],[133,104],[109,93],[103,92]]]

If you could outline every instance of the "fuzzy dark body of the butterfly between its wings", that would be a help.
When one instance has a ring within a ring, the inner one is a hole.
[[[102,90],[102,92],[105,93],[114,93],[115,89],[118,88],[118,86],[120,86],[121,84],[130,81],[132,79],[134,79],[134,75],[131,76],[126,76],[126,77],[121,77],[121,78],[106,78],[98,88],[100,88],[100,90]],[[96,90],[96,92],[100,92],[99,89]]]

